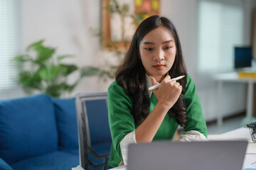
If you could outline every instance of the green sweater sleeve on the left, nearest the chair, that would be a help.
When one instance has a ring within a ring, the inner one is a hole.
[[[132,97],[127,96],[122,86],[114,81],[107,92],[107,106],[112,145],[119,159],[123,160],[120,142],[136,129],[132,116]]]

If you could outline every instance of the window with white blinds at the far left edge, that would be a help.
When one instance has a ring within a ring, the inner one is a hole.
[[[0,0],[0,94],[17,87],[18,68],[11,59],[21,53],[21,1]]]

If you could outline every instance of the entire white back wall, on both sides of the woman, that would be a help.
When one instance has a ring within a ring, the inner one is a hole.
[[[246,1],[245,42],[250,43],[250,14],[254,0]],[[216,118],[218,113],[216,84],[197,84],[197,2],[198,0],[161,0],[161,15],[171,19],[178,30],[188,73],[197,85],[206,119]],[[46,45],[58,47],[58,54],[74,54],[68,62],[79,66],[102,64],[100,42],[90,33],[90,28],[100,29],[100,0],[23,0],[23,46],[42,38]],[[75,75],[70,79],[73,81]],[[85,91],[106,91],[111,81],[85,78],[70,95]],[[242,84],[225,84],[226,115],[245,110],[246,87]],[[239,96],[239,97],[238,97]]]

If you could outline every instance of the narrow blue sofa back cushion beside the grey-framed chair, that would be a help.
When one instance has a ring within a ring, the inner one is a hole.
[[[53,98],[59,134],[59,149],[78,149],[75,98]]]

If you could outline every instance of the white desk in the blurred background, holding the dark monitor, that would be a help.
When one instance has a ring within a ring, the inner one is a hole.
[[[247,118],[252,117],[253,112],[253,84],[256,83],[256,79],[253,78],[240,78],[237,72],[216,74],[215,80],[218,81],[218,126],[223,123],[223,83],[233,82],[233,83],[246,83],[247,84],[247,106],[246,106],[246,116]]]

